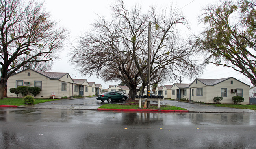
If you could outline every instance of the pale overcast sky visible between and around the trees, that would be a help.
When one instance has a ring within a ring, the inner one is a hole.
[[[70,42],[72,45],[76,45],[76,40],[79,36],[82,36],[84,31],[91,29],[91,24],[95,22],[97,14],[105,17],[111,15],[109,5],[114,2],[114,0],[45,0],[45,6],[47,11],[51,13],[52,18],[58,21],[60,26],[69,29]],[[177,5],[178,9],[183,12],[184,16],[188,18],[191,26],[191,33],[198,33],[200,29],[202,29],[202,25],[198,25],[197,16],[200,14],[202,7],[216,3],[218,0],[124,0],[124,3],[128,8],[136,2],[137,4],[142,5],[142,10],[145,12],[149,10],[149,6],[166,7],[170,6],[171,2],[173,2]],[[60,60],[54,60],[52,72],[67,72],[72,78],[75,78],[77,75],[77,78],[85,78],[88,82],[101,84],[103,89],[108,88],[109,85],[117,85],[119,83],[104,82],[95,76],[82,76],[76,68],[69,63],[69,47],[65,47],[65,51],[61,52]],[[252,86],[250,80],[244,75],[221,66],[216,67],[214,65],[209,65],[203,72],[203,75],[198,78],[218,79],[231,76]],[[183,78],[182,83],[191,83],[193,80],[195,80],[195,78],[192,80]],[[161,85],[173,85],[173,83],[176,82],[167,81]]]

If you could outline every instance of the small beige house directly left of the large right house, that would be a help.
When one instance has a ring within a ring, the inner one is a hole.
[[[171,98],[176,100],[180,98],[189,99],[189,85],[187,83],[174,83],[171,87]]]

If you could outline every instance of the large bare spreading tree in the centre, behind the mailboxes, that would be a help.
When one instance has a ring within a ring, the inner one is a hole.
[[[143,91],[147,84],[149,21],[153,26],[151,84],[200,73],[192,44],[181,39],[177,30],[177,25],[186,26],[187,20],[174,7],[159,11],[151,7],[143,13],[139,5],[128,10],[123,0],[117,0],[111,10],[112,18],[99,16],[72,51],[71,62],[83,75],[96,74],[105,81],[121,80],[129,87],[131,98],[139,91],[137,85]]]

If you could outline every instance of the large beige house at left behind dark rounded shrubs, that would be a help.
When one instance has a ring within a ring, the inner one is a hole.
[[[8,79],[7,97],[17,97],[10,92],[10,88],[18,86],[35,86],[41,88],[37,98],[70,97],[73,93],[74,80],[69,73],[42,72],[33,69],[26,69],[11,75]],[[22,95],[19,94],[19,97]]]

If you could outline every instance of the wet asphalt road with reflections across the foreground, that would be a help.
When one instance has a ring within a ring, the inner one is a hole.
[[[255,113],[0,108],[0,148],[254,149],[255,122]]]

